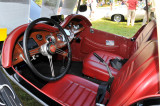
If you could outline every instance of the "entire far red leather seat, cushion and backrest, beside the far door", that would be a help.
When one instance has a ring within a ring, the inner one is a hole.
[[[133,42],[132,47],[130,47],[129,56],[131,57],[143,43],[147,42],[149,39],[152,39],[152,33],[156,28],[156,22],[149,22],[139,36],[136,38],[135,42]],[[155,31],[154,31],[155,32]],[[153,34],[155,35],[155,34]],[[123,59],[123,57],[118,56],[113,53],[105,52],[105,51],[95,51],[98,55],[100,55],[106,63],[109,64],[110,59],[114,59],[116,57]],[[111,72],[113,76],[116,76],[119,72],[118,70],[111,68]],[[108,71],[106,67],[93,55],[93,53],[89,54],[83,60],[83,74],[92,78],[96,78],[98,80],[107,81],[109,79]]]

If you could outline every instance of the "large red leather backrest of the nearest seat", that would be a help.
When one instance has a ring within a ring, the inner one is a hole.
[[[158,93],[157,41],[148,41],[130,57],[115,77],[108,105],[128,105],[140,97]]]

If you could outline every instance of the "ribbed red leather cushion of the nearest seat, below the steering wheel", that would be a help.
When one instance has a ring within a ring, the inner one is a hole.
[[[98,84],[70,74],[42,88],[42,91],[61,105],[72,106],[95,106],[97,90]],[[105,101],[108,98],[107,92]]]

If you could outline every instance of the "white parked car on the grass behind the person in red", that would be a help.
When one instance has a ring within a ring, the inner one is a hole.
[[[115,21],[115,22],[121,22],[127,19],[127,12],[128,12],[128,9],[126,5],[115,6],[112,11],[110,10],[107,11],[105,18],[111,19],[112,21]],[[145,10],[137,7],[136,20],[143,19],[144,14],[145,14]]]

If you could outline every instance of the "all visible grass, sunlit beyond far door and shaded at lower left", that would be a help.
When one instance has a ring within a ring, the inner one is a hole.
[[[141,27],[142,22],[135,22],[135,26],[127,26],[126,22],[113,22],[110,20],[106,19],[99,19],[97,21],[93,21],[93,28],[99,29],[102,31],[118,34],[118,35],[123,35],[126,37],[132,37],[137,30]],[[16,94],[20,98],[22,104],[24,106],[41,106],[36,100],[34,100],[32,97],[30,97],[27,93],[22,91],[19,87],[16,85],[13,85],[13,88],[16,91]]]

